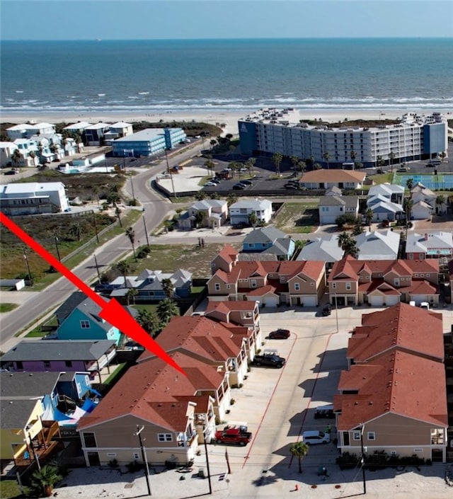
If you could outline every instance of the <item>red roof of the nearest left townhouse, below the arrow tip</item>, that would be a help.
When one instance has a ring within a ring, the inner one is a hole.
[[[78,429],[125,415],[135,415],[168,429],[185,428],[183,421],[187,403],[178,403],[178,397],[194,397],[195,401],[197,390],[217,390],[222,385],[224,374],[217,372],[217,367],[206,365],[181,352],[174,352],[171,357],[184,369],[187,377],[169,367],[159,357],[135,365],[121,377],[92,413],[79,420]],[[164,404],[166,410],[161,409]]]

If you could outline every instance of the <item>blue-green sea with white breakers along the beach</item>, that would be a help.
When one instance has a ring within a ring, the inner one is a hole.
[[[453,39],[1,42],[0,111],[453,110]]]

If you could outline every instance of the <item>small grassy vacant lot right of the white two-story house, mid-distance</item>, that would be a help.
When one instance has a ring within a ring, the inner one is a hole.
[[[318,205],[302,202],[285,202],[274,220],[277,229],[289,234],[310,234],[318,223]]]

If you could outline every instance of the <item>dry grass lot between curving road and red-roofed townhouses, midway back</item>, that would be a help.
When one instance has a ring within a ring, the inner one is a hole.
[[[231,246],[241,248],[239,244]],[[164,273],[173,273],[182,268],[193,273],[195,277],[207,278],[211,276],[210,263],[223,247],[224,244],[205,244],[204,248],[199,248],[197,244],[150,245],[148,258],[139,259],[137,262],[134,257],[127,259],[130,263],[128,274],[137,275],[146,268],[162,270]]]

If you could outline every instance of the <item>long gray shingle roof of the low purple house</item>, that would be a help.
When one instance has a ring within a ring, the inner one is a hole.
[[[114,340],[37,340],[21,341],[0,357],[0,362],[26,360],[98,360]]]

